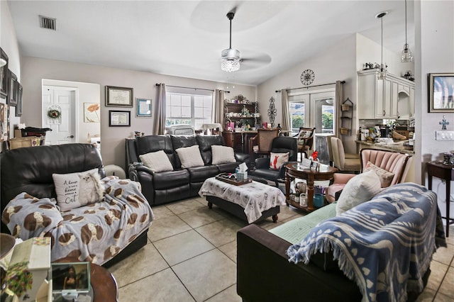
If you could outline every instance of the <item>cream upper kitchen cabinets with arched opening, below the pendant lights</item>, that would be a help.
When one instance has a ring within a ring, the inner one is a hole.
[[[411,118],[414,83],[389,73],[380,80],[378,73],[377,69],[358,72],[358,118]]]

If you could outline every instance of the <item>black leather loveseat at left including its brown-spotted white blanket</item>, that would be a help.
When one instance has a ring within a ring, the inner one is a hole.
[[[22,240],[51,237],[52,261],[77,257],[104,266],[146,245],[153,212],[140,192],[140,184],[105,177],[96,147],[89,144],[23,147],[1,152],[0,161],[2,233]],[[79,174],[84,175],[83,179],[78,178]],[[77,179],[72,182],[74,177]],[[87,194],[81,183],[92,177],[99,190]],[[65,186],[64,193],[80,191],[60,199],[57,195],[61,191],[56,190],[60,185],[55,182],[58,179],[65,185],[74,184]],[[95,198],[93,203],[60,211],[67,206],[66,200],[82,203],[83,195],[98,196],[99,200]]]

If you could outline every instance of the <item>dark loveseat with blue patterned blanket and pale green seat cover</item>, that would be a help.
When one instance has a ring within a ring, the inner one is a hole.
[[[413,301],[421,293],[433,252],[446,246],[436,194],[397,184],[339,216],[336,206],[270,231],[238,231],[243,301]]]

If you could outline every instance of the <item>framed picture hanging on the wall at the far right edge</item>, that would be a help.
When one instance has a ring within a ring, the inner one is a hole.
[[[454,74],[429,74],[428,112],[454,113]]]

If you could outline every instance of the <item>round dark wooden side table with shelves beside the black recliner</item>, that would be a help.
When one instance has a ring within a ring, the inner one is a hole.
[[[299,163],[290,163],[285,165],[285,198],[287,199],[287,206],[291,204],[295,208],[299,208],[304,211],[314,211],[314,181],[316,180],[331,180],[333,174],[338,169],[328,166],[327,164],[321,164],[320,170],[304,169]],[[299,203],[290,199],[290,181],[295,178],[305,179],[307,182],[307,207],[299,206]]]

